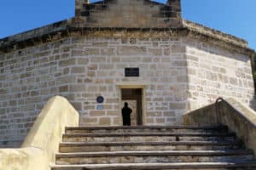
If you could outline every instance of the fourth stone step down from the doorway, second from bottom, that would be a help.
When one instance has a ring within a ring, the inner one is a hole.
[[[252,161],[253,150],[160,150],[61,153],[57,165],[101,163],[167,163]]]

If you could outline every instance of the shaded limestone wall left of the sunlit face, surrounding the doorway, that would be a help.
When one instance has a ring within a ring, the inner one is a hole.
[[[84,126],[121,125],[118,84],[145,88],[144,124],[174,124],[186,109],[181,38],[70,37],[0,55],[0,145],[18,146],[44,102],[66,97]],[[125,77],[139,67],[140,77]],[[96,96],[105,98],[96,110]]]

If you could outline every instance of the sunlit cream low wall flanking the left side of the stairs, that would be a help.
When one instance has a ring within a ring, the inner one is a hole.
[[[67,99],[49,99],[28,133],[22,148],[0,150],[0,170],[47,170],[55,162],[67,126],[79,125],[79,113]]]

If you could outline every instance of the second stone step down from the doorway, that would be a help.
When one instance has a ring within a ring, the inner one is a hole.
[[[63,134],[63,142],[168,142],[234,141],[235,133],[75,133]]]

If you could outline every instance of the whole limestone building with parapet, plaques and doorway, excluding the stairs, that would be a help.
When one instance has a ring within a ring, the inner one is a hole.
[[[73,18],[0,40],[0,146],[19,145],[55,95],[81,126],[121,125],[124,101],[133,125],[180,124],[218,96],[251,105],[252,56],[245,40],[183,20],[180,0],[76,0]]]

